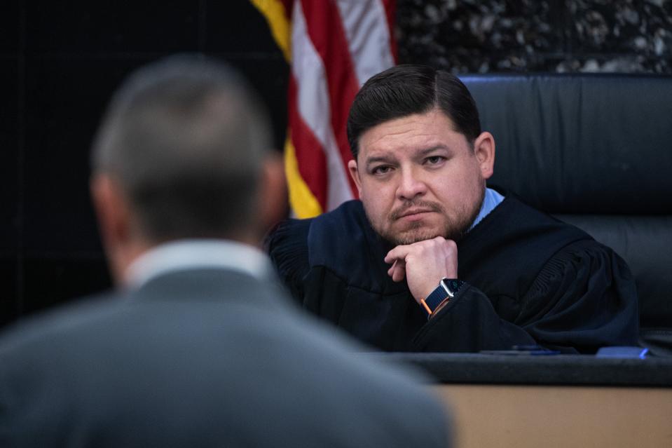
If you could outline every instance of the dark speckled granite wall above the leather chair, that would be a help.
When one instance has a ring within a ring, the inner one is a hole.
[[[398,0],[399,62],[672,74],[672,0]]]

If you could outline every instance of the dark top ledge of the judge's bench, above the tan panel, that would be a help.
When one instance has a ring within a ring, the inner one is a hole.
[[[376,353],[371,356],[415,365],[439,383],[672,387],[672,358],[477,353]]]

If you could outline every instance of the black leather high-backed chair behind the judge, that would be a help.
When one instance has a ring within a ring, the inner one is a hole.
[[[628,262],[640,344],[672,355],[672,77],[460,76],[495,136],[491,184]]]

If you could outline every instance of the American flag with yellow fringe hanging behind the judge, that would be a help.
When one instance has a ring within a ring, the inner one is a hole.
[[[291,66],[284,165],[296,217],[357,197],[345,123],[357,90],[392,67],[395,0],[250,0]]]

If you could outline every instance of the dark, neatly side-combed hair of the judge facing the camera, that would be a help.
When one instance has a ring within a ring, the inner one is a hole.
[[[456,76],[425,65],[397,65],[372,76],[355,96],[348,116],[348,142],[357,160],[359,137],[395,118],[424,114],[435,107],[451,119],[469,144],[481,134],[476,102]]]

